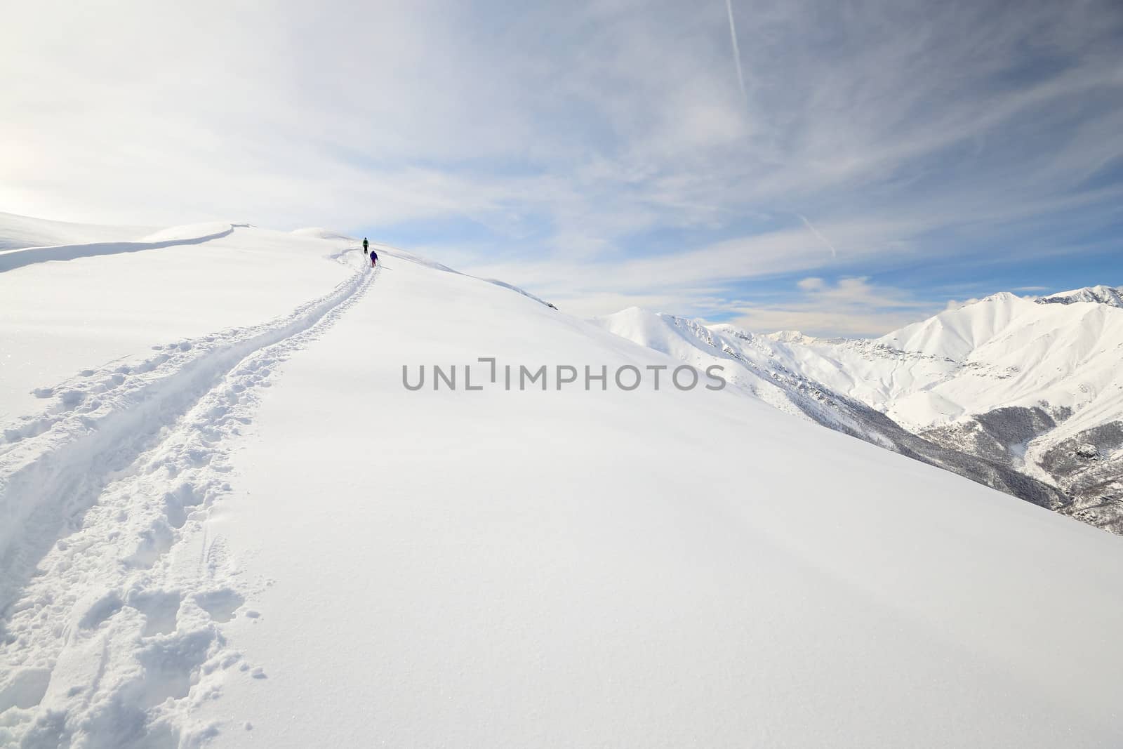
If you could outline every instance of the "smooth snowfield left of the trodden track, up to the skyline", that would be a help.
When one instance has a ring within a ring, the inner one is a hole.
[[[0,223],[0,241],[10,231]],[[156,349],[289,312],[347,277],[323,257],[355,246],[218,223],[0,253],[0,420],[26,415],[9,429],[35,431],[44,407],[95,396],[91,373],[107,362],[135,368]]]

